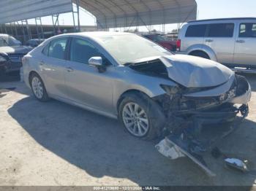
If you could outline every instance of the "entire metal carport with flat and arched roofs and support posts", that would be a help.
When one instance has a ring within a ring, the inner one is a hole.
[[[76,9],[72,3],[77,5]],[[165,31],[165,24],[195,20],[197,15],[195,0],[1,0],[0,32],[9,34],[5,25],[8,23],[11,34],[17,36],[19,27],[23,40],[31,39],[28,19],[34,19],[37,36],[43,38],[41,17],[51,15],[56,34],[59,14],[65,12],[72,12],[74,31],[80,31],[79,7],[96,17],[100,29],[162,25]]]

